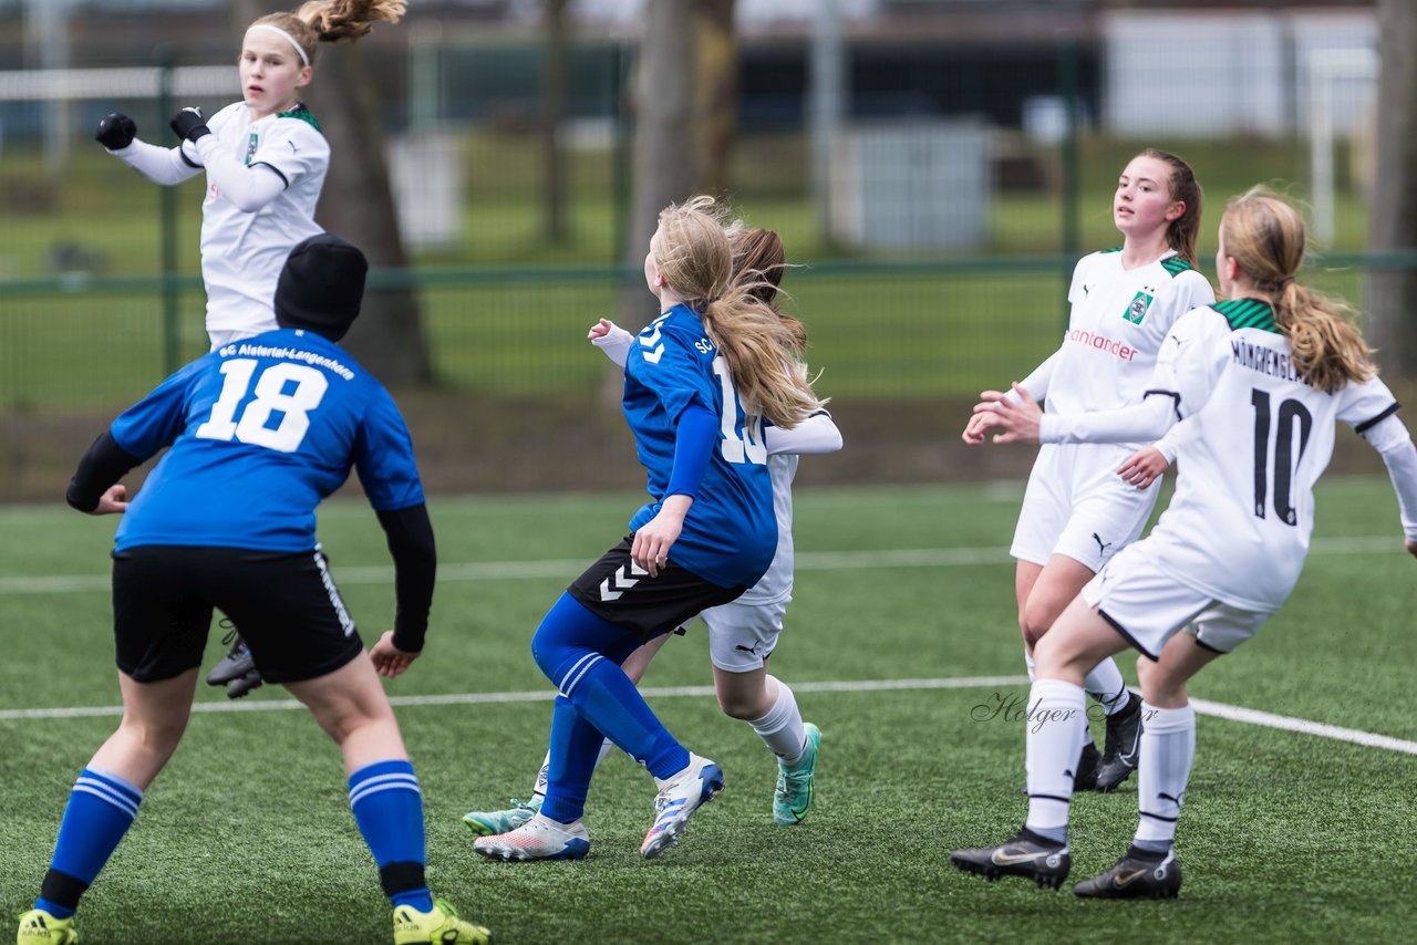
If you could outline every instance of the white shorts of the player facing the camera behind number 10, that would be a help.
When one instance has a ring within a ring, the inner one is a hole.
[[[1135,452],[1115,443],[1044,443],[1029,473],[1009,554],[1044,565],[1066,554],[1093,571],[1136,541],[1161,489],[1128,486],[1118,466]]]

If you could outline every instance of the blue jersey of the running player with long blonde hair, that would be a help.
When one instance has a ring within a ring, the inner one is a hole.
[[[680,305],[650,322],[625,360],[625,419],[655,499],[631,519],[632,531],[659,513],[679,417],[693,402],[720,418],[720,439],[669,558],[720,587],[750,587],[778,547],[762,421],[745,415],[727,358],[694,310]]]

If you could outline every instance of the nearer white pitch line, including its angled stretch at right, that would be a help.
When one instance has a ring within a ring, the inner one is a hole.
[[[836,681],[794,681],[795,693],[881,693],[881,691],[921,691],[939,689],[998,689],[1003,686],[1027,686],[1027,676],[955,676],[944,679],[863,679]],[[639,690],[646,698],[684,698],[710,697],[714,694],[713,686],[646,686]],[[422,706],[504,706],[509,703],[546,703],[555,696],[551,690],[534,690],[520,693],[448,693],[442,696],[391,696],[390,703],[395,707]],[[1383,748],[1406,755],[1417,755],[1417,741],[1406,741],[1390,735],[1379,735],[1357,728],[1340,728],[1325,723],[1295,718],[1292,715],[1278,715],[1264,713],[1243,706],[1214,703],[1207,698],[1192,698],[1190,704],[1200,715],[1212,715],[1229,721],[1275,728],[1280,731],[1294,731],[1319,738],[1346,741],[1369,748]],[[272,698],[261,701],[213,701],[194,703],[193,714],[218,713],[273,713],[296,711],[305,706],[293,698]],[[122,706],[74,706],[65,708],[4,708],[0,710],[0,721],[45,720],[45,718],[118,718],[122,717]],[[1022,718],[1019,721],[1023,721]]]

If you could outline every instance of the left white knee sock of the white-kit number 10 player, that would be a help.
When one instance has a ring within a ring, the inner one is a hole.
[[[1029,817],[1024,826],[1056,834],[1067,830],[1073,775],[1087,737],[1087,694],[1073,683],[1040,679],[1029,690],[1029,717],[1024,724],[1029,727]]]

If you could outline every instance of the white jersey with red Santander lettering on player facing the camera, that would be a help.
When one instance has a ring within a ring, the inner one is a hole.
[[[1141,402],[1170,327],[1214,300],[1206,278],[1175,251],[1134,269],[1122,268],[1119,249],[1083,256],[1073,271],[1071,316],[1044,409],[1084,414]]]

